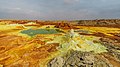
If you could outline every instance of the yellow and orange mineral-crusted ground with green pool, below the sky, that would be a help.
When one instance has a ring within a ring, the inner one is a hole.
[[[0,67],[120,67],[120,19],[0,20]]]

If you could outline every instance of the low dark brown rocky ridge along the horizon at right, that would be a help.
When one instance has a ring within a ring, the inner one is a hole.
[[[100,20],[80,20],[79,25],[87,26],[106,26],[106,27],[120,27],[119,19],[100,19]]]

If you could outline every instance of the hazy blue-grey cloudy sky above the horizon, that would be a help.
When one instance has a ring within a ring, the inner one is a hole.
[[[120,0],[0,0],[0,19],[120,18]]]

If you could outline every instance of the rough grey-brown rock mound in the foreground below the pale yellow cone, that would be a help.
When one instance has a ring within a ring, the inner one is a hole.
[[[52,59],[48,67],[112,67],[112,65],[102,55],[72,51],[66,56]]]

